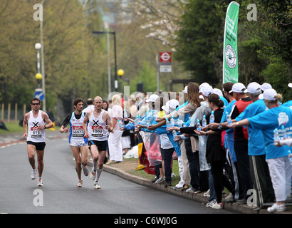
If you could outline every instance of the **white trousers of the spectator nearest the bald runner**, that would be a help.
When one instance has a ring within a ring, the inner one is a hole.
[[[122,161],[122,130],[115,129],[108,137],[108,150],[110,152],[110,160]]]

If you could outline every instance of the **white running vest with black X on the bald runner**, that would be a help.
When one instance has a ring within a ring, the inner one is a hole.
[[[89,140],[108,140],[108,130],[106,129],[105,121],[103,121],[103,113],[105,113],[105,110],[102,110],[98,117],[95,117],[93,113],[91,113],[88,123]]]

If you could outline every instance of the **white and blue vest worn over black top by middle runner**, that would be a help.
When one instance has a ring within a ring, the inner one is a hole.
[[[69,143],[73,142],[83,142],[88,143],[88,138],[84,138],[83,130],[83,120],[84,113],[81,113],[80,119],[75,118],[75,113],[73,112],[70,119],[70,134],[69,134]]]

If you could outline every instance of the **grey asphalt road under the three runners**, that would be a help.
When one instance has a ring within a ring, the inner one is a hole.
[[[234,214],[137,185],[102,172],[100,190],[89,176],[75,187],[75,160],[66,138],[47,140],[43,187],[31,180],[26,143],[0,148],[0,213],[9,214]]]

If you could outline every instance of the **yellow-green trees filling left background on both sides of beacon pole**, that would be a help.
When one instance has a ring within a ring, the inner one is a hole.
[[[40,21],[33,20],[37,3],[14,0],[0,6],[0,103],[5,105],[29,105],[37,87],[34,45],[40,42]],[[93,28],[100,29],[100,14],[85,15],[78,0],[45,1],[43,11],[46,105],[53,108],[60,99],[71,111],[74,98],[105,94],[106,56],[100,51],[105,49],[104,39],[92,36]]]

